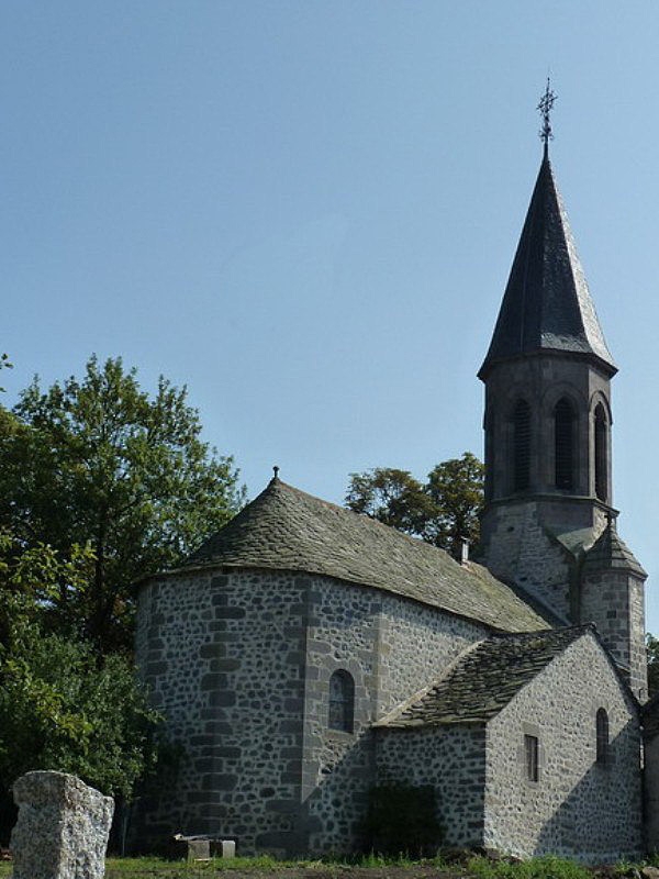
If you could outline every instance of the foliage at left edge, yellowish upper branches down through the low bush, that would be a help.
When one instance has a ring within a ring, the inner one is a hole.
[[[82,588],[93,564],[88,547],[70,556],[0,533],[0,794],[23,772],[47,768],[130,797],[155,756],[158,715],[130,660],[101,658],[44,626],[62,583]]]

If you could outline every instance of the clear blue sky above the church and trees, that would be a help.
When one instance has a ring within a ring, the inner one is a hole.
[[[607,343],[614,502],[659,633],[659,5],[0,5],[0,347],[187,383],[250,497],[482,454],[485,354],[551,157]]]

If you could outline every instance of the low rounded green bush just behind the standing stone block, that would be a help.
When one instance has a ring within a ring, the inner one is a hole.
[[[89,644],[31,628],[0,658],[0,786],[56,769],[130,799],[155,761],[157,720],[127,657],[99,663]]]

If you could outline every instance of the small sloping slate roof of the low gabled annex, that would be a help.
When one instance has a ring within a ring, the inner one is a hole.
[[[423,693],[376,726],[392,728],[489,721],[592,625],[493,635],[461,654]]]

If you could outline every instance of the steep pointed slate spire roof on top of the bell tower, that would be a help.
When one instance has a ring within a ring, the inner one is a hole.
[[[547,156],[540,165],[479,377],[484,379],[496,360],[539,351],[591,355],[610,375],[617,371]]]

